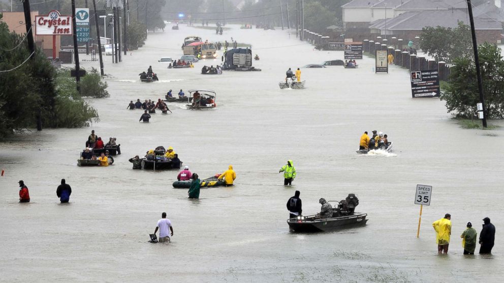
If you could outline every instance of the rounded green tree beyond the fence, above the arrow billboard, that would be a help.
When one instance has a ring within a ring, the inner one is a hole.
[[[470,56],[470,27],[461,21],[456,28],[424,27],[420,35],[420,48],[437,61],[453,62],[455,58]]]

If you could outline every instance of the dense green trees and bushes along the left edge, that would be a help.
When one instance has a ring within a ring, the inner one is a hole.
[[[10,32],[0,21],[0,70],[8,71],[0,73],[0,138],[35,127],[39,114],[44,127],[83,126],[98,118],[96,111],[80,97],[59,88],[55,69],[41,50],[37,49],[34,57],[24,62],[29,56],[24,34]],[[65,103],[80,106],[79,111],[85,117],[61,119],[64,113],[61,105]],[[65,123],[55,123],[58,120]]]

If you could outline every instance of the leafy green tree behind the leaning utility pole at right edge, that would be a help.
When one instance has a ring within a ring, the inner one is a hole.
[[[504,118],[504,60],[500,48],[484,43],[478,47],[485,96],[485,112],[489,119]],[[450,84],[441,95],[448,112],[456,117],[477,117],[480,102],[474,60],[469,56],[456,58],[451,68]]]

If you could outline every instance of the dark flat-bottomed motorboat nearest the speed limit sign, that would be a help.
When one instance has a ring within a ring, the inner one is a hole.
[[[359,199],[355,194],[349,194],[346,199],[336,202],[332,217],[319,218],[317,215],[298,216],[287,220],[289,228],[294,232],[331,232],[345,228],[364,226],[367,214],[355,213]]]

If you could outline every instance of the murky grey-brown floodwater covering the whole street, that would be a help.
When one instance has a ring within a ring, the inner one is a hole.
[[[294,31],[233,26],[215,36],[213,30],[167,27],[150,33],[122,63],[106,56],[111,96],[91,100],[99,123],[44,129],[0,144],[6,172],[0,178],[0,281],[497,282],[504,276],[501,128],[460,128],[443,101],[411,98],[406,70],[392,66],[388,75],[375,75],[367,57],[358,69],[302,69],[306,89],[280,90],[288,67],[343,57],[313,50]],[[157,62],[179,57],[190,35],[251,44],[262,72],[203,76],[204,64],[220,61],[200,61],[194,69]],[[139,82],[149,65],[160,82]],[[215,90],[217,109],[171,104],[173,114],[152,115],[148,124],[138,122],[140,111],[126,110],[130,100],[193,88]],[[122,155],[113,166],[77,166],[91,129],[117,137]],[[393,153],[357,155],[360,135],[374,129],[389,135]],[[201,199],[188,200],[186,190],[171,186],[176,171],[131,169],[128,158],[156,146],[173,146],[201,178],[232,164],[236,186],[202,189]],[[298,173],[292,187],[284,187],[278,173],[287,159]],[[55,194],[61,178],[73,189],[65,205]],[[18,180],[28,186],[31,203],[17,202]],[[417,184],[433,186],[420,238]],[[295,190],[305,215],[320,209],[320,197],[355,193],[367,226],[291,233],[286,202]],[[148,234],[163,211],[173,223],[172,242],[151,244]],[[452,241],[449,255],[438,256],[431,223],[445,213],[452,215]],[[484,217],[497,227],[493,255],[466,258],[459,235],[467,221],[479,232]]]

